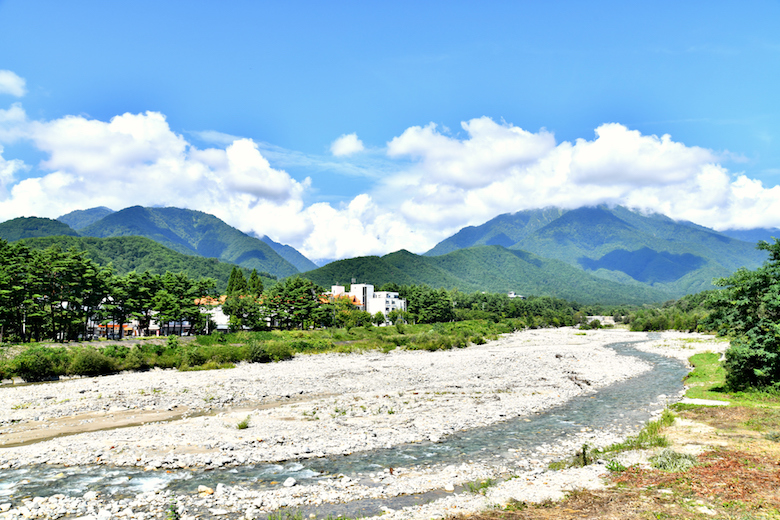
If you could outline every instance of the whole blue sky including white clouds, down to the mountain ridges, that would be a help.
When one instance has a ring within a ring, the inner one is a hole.
[[[175,205],[313,258],[546,205],[778,226],[778,21],[777,2],[0,1],[0,219]]]

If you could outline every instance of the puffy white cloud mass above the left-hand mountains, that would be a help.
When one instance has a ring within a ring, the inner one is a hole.
[[[80,116],[28,122],[19,114],[6,119],[17,122],[9,132],[29,139],[48,157],[39,165],[40,175],[18,182],[13,173],[22,165],[0,163],[3,220],[138,204],[198,209],[260,234],[277,213],[292,218],[290,207],[305,221],[300,199],[310,181],[271,167],[250,139],[225,149],[197,149],[157,112],[123,114],[108,122]]]

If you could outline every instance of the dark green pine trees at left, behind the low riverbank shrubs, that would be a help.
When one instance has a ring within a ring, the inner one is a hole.
[[[73,341],[92,335],[95,323],[136,319],[147,333],[158,324],[184,322],[205,329],[196,301],[214,295],[213,279],[185,273],[116,275],[85,252],[59,247],[30,249],[0,240],[0,335],[3,341]]]

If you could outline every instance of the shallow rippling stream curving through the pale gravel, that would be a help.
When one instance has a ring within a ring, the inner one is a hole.
[[[81,496],[89,490],[114,497],[133,496],[147,491],[169,489],[192,493],[198,485],[217,483],[252,488],[280,486],[288,477],[301,484],[344,474],[361,478],[390,467],[460,464],[468,461],[514,460],[516,453],[534,457],[543,444],[554,444],[583,429],[636,430],[662,407],[659,396],[676,396],[687,373],[684,363],[658,354],[637,350],[624,342],[608,345],[619,354],[648,361],[653,369],[599,389],[591,395],[575,397],[545,412],[518,417],[484,428],[459,432],[441,442],[422,442],[347,456],[304,459],[278,464],[254,464],[205,471],[158,470],[113,466],[30,466],[0,470],[0,501],[17,501],[27,496],[55,493]],[[663,400],[663,398],[661,398]],[[509,452],[513,448],[517,452]],[[534,457],[535,458],[535,457]],[[367,483],[370,483],[368,479]]]

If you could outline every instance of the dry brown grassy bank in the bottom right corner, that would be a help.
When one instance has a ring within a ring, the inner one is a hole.
[[[666,429],[672,449],[709,447],[683,472],[632,467],[603,491],[561,502],[515,503],[471,520],[780,519],[780,409],[696,407]],[[456,517],[465,518],[465,517]],[[454,520],[454,519],[453,519]]]

